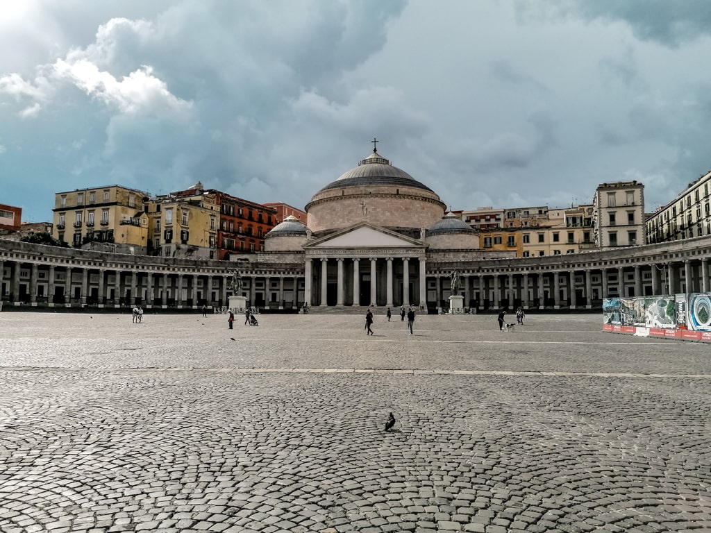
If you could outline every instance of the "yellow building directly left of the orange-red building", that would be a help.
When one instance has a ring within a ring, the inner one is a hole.
[[[205,194],[199,181],[186,190],[151,198],[146,212],[149,254],[218,259],[220,206],[215,193]]]

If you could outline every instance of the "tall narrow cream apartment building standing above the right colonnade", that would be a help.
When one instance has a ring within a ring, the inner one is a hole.
[[[593,199],[598,247],[645,244],[644,185],[638,181],[601,183]]]

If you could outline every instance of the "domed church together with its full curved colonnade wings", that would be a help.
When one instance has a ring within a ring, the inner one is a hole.
[[[216,308],[241,296],[265,311],[416,306],[435,313],[602,309],[603,298],[707,292],[711,237],[515,257],[481,247],[479,232],[439,195],[373,149],[313,195],[306,223],[287,217],[264,250],[229,261],[66,249],[0,239],[5,306]],[[454,282],[454,279],[457,282]],[[456,293],[456,294],[453,294]]]

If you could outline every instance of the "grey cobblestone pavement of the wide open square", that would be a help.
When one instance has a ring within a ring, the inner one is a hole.
[[[0,313],[0,532],[711,531],[709,345],[226,318]]]

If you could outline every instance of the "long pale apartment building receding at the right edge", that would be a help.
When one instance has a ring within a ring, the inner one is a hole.
[[[711,235],[711,171],[646,220],[648,244]]]

